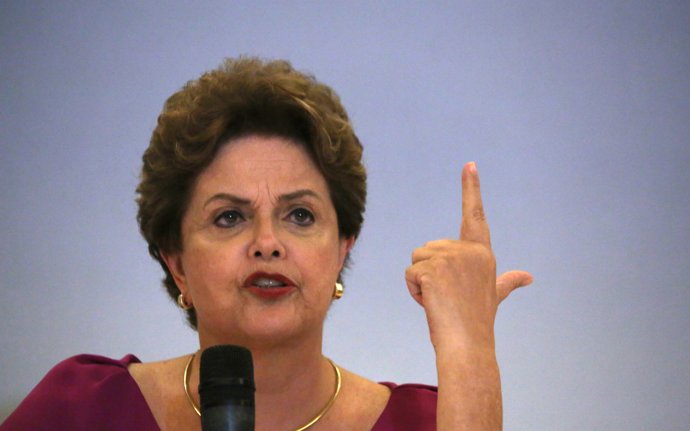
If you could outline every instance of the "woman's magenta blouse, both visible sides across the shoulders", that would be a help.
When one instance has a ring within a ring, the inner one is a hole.
[[[48,372],[0,431],[160,431],[127,370],[138,362],[134,355],[120,360],[96,355],[66,359]],[[372,431],[436,429],[435,387],[383,384],[391,389],[391,397]]]

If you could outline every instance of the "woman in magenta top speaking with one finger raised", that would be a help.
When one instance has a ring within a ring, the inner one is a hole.
[[[286,62],[228,60],[188,83],[165,104],[137,189],[168,293],[200,350],[251,350],[257,430],[500,429],[494,317],[531,276],[496,280],[473,163],[460,239],[415,250],[405,274],[426,312],[438,391],[375,383],[322,355],[363,221],[361,155],[333,91]],[[200,429],[199,357],[68,359],[2,430]]]

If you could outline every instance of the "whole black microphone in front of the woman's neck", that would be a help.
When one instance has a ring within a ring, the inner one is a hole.
[[[254,365],[241,346],[201,353],[199,398],[203,431],[254,431]]]

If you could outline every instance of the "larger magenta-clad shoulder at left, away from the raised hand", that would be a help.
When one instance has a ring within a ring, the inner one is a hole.
[[[127,370],[138,362],[134,355],[65,359],[36,385],[2,429],[98,429],[104,420],[117,423],[125,412],[137,420],[145,417],[148,409]]]

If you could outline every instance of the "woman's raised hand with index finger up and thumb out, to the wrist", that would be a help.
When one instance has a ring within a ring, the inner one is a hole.
[[[462,170],[459,240],[431,241],[412,254],[405,273],[412,297],[424,307],[434,347],[494,348],[498,304],[532,276],[509,271],[496,278],[489,225],[473,162]]]

